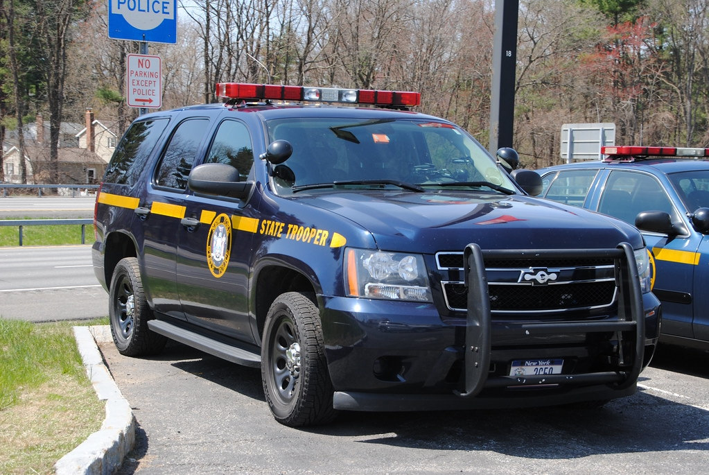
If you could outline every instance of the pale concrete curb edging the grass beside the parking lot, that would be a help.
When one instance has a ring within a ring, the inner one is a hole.
[[[97,341],[111,340],[111,330],[108,325],[74,327],[74,337],[96,396],[106,401],[106,418],[101,429],[55,464],[55,473],[112,474],[135,445],[135,418],[96,345]]]

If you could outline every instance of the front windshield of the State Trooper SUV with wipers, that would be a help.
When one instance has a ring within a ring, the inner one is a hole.
[[[293,146],[289,160],[274,167],[282,194],[336,187],[517,192],[486,150],[449,123],[289,118],[267,128],[270,141]]]

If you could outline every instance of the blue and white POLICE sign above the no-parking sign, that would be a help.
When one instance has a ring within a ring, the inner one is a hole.
[[[177,0],[108,0],[108,38],[177,43]]]

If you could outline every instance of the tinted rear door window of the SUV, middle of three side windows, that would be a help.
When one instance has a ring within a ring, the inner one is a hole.
[[[157,186],[187,189],[187,177],[208,125],[206,118],[191,119],[177,125],[155,172]]]

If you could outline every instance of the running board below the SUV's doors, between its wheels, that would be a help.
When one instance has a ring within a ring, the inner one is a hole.
[[[227,345],[210,337],[172,325],[172,323],[167,323],[164,320],[148,320],[147,326],[155,333],[160,333],[160,335],[164,335],[171,340],[184,343],[227,361],[254,368],[261,366],[261,354],[259,353]]]

